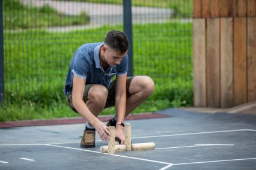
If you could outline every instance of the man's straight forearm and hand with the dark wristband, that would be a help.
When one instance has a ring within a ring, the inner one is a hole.
[[[124,122],[124,116],[126,114],[126,79],[127,75],[118,76],[116,80],[115,90],[115,110],[117,114],[117,122]],[[116,126],[116,136],[121,139],[121,144],[124,144],[124,132],[123,126]]]

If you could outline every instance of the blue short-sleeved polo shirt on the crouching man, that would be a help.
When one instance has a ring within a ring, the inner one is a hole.
[[[123,76],[128,71],[128,55],[121,60],[120,65],[116,65],[112,68],[109,66],[105,70],[105,75],[100,65],[100,47],[104,42],[96,42],[84,44],[75,51],[70,62],[69,71],[67,72],[66,85],[64,87],[64,95],[69,94],[72,91],[73,76],[85,78],[85,84],[101,84],[106,88],[111,83],[111,78],[114,75]]]

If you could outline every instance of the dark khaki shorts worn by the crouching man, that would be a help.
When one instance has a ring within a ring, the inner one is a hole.
[[[130,93],[129,93],[129,87],[130,87],[130,82],[132,81],[134,77],[127,77],[126,80],[126,97],[129,98],[130,97]],[[83,100],[86,103],[87,102],[87,98],[88,98],[88,92],[91,89],[91,87],[93,87],[96,84],[87,84],[85,85],[85,90],[84,90],[84,95],[83,95]],[[111,82],[109,88],[108,88],[108,98],[106,101],[106,105],[105,108],[108,107],[112,107],[115,105],[115,80]],[[72,108],[73,111],[75,111],[76,113],[78,113],[78,111],[76,111],[76,109],[73,107],[72,104],[72,92],[70,92],[67,96],[66,96],[66,101],[67,101],[67,105],[69,105],[70,108]]]

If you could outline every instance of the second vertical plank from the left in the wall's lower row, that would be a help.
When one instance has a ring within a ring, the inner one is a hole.
[[[207,19],[207,106],[220,107],[219,19]]]

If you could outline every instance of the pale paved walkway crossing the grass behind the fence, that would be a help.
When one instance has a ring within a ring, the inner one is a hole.
[[[90,23],[86,26],[66,26],[50,28],[49,31],[71,31],[73,29],[95,28],[102,25],[118,25],[123,23],[123,5],[95,4],[90,2],[72,1],[40,1],[21,0],[25,5],[42,7],[45,4],[55,8],[59,13],[77,16],[87,13],[90,16]],[[166,8],[153,7],[132,7],[133,23],[160,23],[166,22],[174,11]]]

